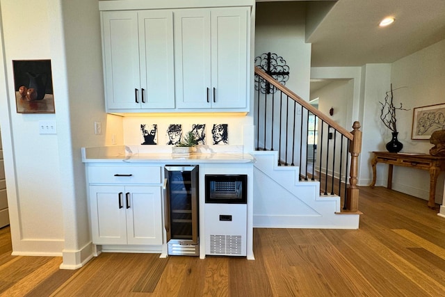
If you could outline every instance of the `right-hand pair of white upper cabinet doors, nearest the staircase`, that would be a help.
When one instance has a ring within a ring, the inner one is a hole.
[[[249,13],[245,7],[175,10],[178,109],[248,108]]]

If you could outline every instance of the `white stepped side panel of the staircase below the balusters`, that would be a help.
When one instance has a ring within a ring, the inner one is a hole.
[[[277,166],[276,152],[260,152],[255,158],[254,227],[359,227],[359,214],[335,214],[341,208],[337,195],[320,195],[318,181],[299,182],[298,166]]]

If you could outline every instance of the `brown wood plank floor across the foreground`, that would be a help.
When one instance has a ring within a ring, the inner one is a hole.
[[[103,253],[76,271],[11,256],[0,296],[445,296],[445,218],[426,200],[360,188],[359,230],[254,229],[254,261]]]

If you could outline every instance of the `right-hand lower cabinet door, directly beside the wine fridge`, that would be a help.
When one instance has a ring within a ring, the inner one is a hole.
[[[126,186],[128,244],[162,244],[161,187]]]

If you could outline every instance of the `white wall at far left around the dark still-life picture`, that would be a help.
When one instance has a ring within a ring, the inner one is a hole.
[[[52,17],[48,1],[1,1],[4,67],[7,94],[1,109],[9,110],[3,137],[13,249],[16,254],[47,252],[60,255],[63,248],[63,189],[60,181],[58,135],[40,135],[39,120],[56,120],[54,114],[16,113],[13,60],[51,58]],[[19,22],[17,20],[20,20]],[[56,72],[57,74],[57,72]],[[53,76],[56,75],[53,73]],[[56,94],[56,111],[60,108]],[[3,114],[4,115],[4,114]],[[59,128],[60,133],[60,128]],[[13,146],[11,149],[10,145]],[[13,164],[13,168],[11,168]]]

